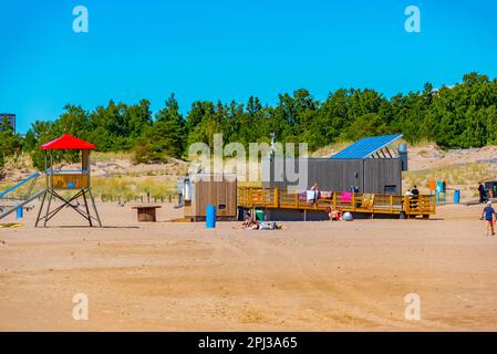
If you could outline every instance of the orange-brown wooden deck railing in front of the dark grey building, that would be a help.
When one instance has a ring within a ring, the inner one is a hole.
[[[436,212],[435,196],[373,195],[362,192],[332,192],[330,198],[318,199],[311,204],[301,200],[297,192],[278,188],[239,187],[237,202],[246,208],[272,208],[294,210],[327,211],[333,206],[341,211],[376,215],[404,215],[406,217],[423,216],[429,218]]]

